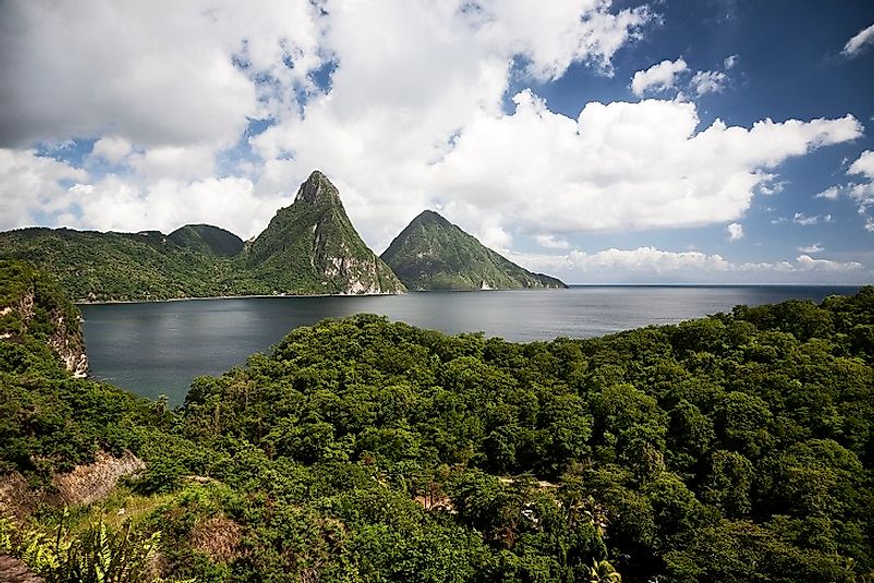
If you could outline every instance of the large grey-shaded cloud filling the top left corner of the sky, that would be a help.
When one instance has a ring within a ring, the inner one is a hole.
[[[265,113],[256,76],[291,94],[321,64],[318,19],[306,0],[2,2],[0,145],[233,141]]]

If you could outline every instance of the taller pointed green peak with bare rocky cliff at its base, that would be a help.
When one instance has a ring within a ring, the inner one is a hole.
[[[286,293],[399,293],[403,284],[361,240],[319,171],[246,248],[246,275]]]

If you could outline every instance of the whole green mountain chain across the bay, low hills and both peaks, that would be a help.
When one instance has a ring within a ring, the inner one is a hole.
[[[567,287],[485,247],[434,210],[421,212],[379,256],[318,170],[245,242],[206,223],[169,234],[36,227],[0,232],[0,258],[54,274],[78,302]]]

